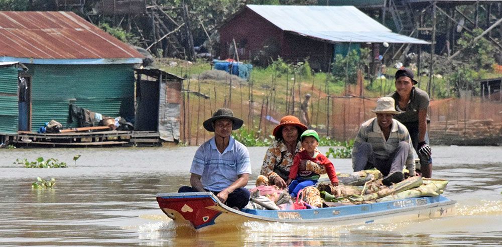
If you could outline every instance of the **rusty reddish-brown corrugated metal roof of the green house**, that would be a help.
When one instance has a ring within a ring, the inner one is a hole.
[[[0,12],[0,57],[29,59],[143,58],[73,12]]]

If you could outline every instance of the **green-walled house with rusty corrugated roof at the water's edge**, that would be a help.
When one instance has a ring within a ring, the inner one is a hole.
[[[71,12],[0,12],[0,63],[28,69],[0,67],[0,133],[36,132],[51,119],[65,125],[69,103],[133,120],[142,59]]]

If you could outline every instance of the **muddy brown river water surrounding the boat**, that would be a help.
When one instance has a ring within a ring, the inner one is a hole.
[[[349,226],[254,223],[211,234],[175,226],[155,199],[189,183],[197,147],[2,149],[0,245],[502,245],[502,147],[432,148],[433,177],[449,180],[444,195],[457,201],[453,216]],[[266,148],[249,152],[256,179]],[[13,164],[38,157],[68,168]],[[337,172],[351,172],[349,159],[331,160]],[[56,187],[32,189],[37,176],[55,178]]]

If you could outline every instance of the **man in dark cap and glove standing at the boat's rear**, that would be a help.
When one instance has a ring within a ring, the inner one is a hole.
[[[420,158],[420,172],[425,178],[432,176],[431,147],[427,133],[427,108],[429,95],[422,89],[415,87],[418,82],[413,79],[413,71],[401,68],[396,72],[396,91],[388,96],[396,101],[396,110],[401,114],[395,119],[403,123],[408,129],[413,148]]]

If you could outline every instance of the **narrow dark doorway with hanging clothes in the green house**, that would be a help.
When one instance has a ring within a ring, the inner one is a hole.
[[[18,79],[19,131],[30,131],[31,127],[31,78]]]

